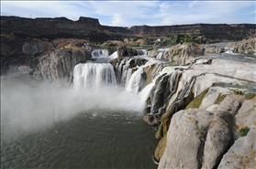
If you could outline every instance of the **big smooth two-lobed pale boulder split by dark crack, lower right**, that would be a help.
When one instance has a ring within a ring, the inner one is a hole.
[[[189,109],[176,112],[167,132],[159,168],[216,167],[228,150],[231,141],[229,124],[241,101],[242,97],[230,95],[213,111]]]

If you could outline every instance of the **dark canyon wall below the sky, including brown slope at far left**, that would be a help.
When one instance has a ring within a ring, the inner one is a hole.
[[[103,42],[125,37],[171,37],[177,34],[205,36],[220,40],[241,40],[255,34],[256,25],[195,24],[181,26],[101,26],[98,19],[83,17],[22,18],[1,16],[1,74],[20,64],[35,68],[47,52],[67,45],[82,47],[84,42]],[[29,45],[30,44],[30,45]],[[35,51],[28,52],[32,47]]]

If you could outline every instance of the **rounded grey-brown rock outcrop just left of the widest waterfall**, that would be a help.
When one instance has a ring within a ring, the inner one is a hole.
[[[34,78],[47,80],[56,87],[68,86],[72,83],[74,66],[90,57],[90,51],[81,49],[63,48],[52,51],[39,58]]]

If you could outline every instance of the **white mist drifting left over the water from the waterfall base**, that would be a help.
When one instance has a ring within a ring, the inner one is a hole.
[[[119,87],[98,90],[58,89],[28,77],[1,79],[1,136],[13,140],[29,132],[47,129],[90,110],[132,111],[141,116],[144,101]]]

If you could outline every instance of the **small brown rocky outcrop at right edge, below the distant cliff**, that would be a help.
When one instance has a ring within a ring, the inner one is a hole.
[[[227,44],[226,48],[235,53],[255,54],[256,38],[243,39],[239,42],[230,42]]]

